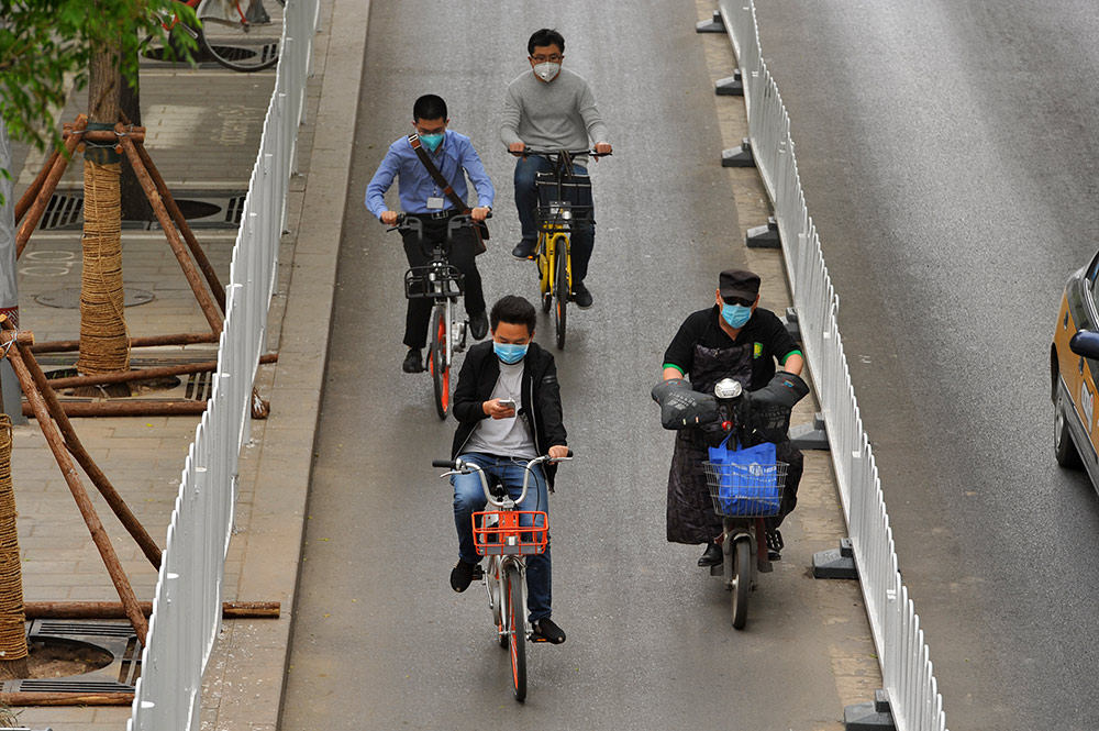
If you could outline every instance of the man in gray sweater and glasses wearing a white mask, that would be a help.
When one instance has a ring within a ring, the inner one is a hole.
[[[610,154],[607,126],[596,109],[596,99],[582,77],[563,69],[565,38],[551,29],[536,31],[526,43],[531,70],[508,86],[503,103],[500,139],[508,151],[521,155],[528,146],[535,149],[587,149],[589,144],[600,154]],[[575,158],[574,171],[587,175],[587,155]],[[523,239],[511,252],[519,259],[534,257],[539,229],[535,218],[537,191],[534,177],[550,173],[548,159],[537,155],[520,157],[515,163],[515,208],[523,228]],[[590,204],[590,201],[576,201]],[[573,299],[580,308],[591,307],[591,292],[584,284],[588,261],[595,244],[595,209],[590,219],[574,225]]]

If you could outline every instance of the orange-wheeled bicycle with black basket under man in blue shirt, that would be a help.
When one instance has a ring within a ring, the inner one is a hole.
[[[465,293],[465,287],[462,272],[447,261],[447,253],[455,231],[471,225],[473,217],[468,213],[451,217],[446,224],[446,241],[433,244],[428,265],[414,266],[404,273],[404,297],[429,298],[434,302],[428,330],[428,370],[440,419],[446,419],[451,410],[451,364],[455,353],[466,350],[469,325],[465,320],[455,320],[454,308],[458,297]],[[389,231],[413,231],[423,246],[423,222],[413,215],[401,213],[397,225]]]

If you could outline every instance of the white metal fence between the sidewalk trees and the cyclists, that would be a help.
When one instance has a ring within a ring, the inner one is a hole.
[[[237,461],[248,439],[252,384],[266,347],[319,18],[319,0],[287,2],[275,91],[233,247],[212,396],[195,430],[168,525],[129,731],[199,728],[202,673],[221,628]]]

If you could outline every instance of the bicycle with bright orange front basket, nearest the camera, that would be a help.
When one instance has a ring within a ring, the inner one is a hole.
[[[573,451],[562,459],[550,455],[535,457],[526,463],[523,489],[512,499],[508,489],[499,480],[490,480],[479,466],[464,462],[460,457],[433,459],[433,467],[447,469],[443,477],[454,474],[477,473],[488,506],[496,510],[484,510],[473,514],[474,544],[477,555],[487,556],[487,565],[481,569],[481,582],[488,591],[496,636],[501,647],[508,649],[511,658],[511,685],[515,700],[526,698],[526,642],[542,642],[533,633],[526,613],[526,560],[524,556],[545,552],[550,541],[550,517],[542,510],[520,510],[526,499],[533,468],[547,462],[571,459]]]

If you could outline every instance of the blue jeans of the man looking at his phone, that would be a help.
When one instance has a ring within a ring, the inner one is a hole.
[[[521,458],[498,457],[492,454],[463,454],[462,459],[471,462],[485,470],[486,476],[496,476],[508,488],[512,498],[518,498],[523,489],[523,475],[526,473],[526,461]],[[533,468],[526,499],[519,503],[520,510],[542,510],[550,514],[550,501],[546,490],[545,473],[542,466]],[[480,476],[476,473],[453,475],[454,486],[454,527],[458,530],[458,557],[475,564],[480,561],[474,547],[473,514],[484,510],[485,490],[481,489]],[[520,524],[530,525],[530,516]],[[552,599],[550,571],[550,546],[545,553],[526,556],[526,608],[532,622],[548,617]]]

